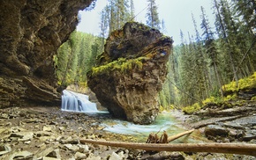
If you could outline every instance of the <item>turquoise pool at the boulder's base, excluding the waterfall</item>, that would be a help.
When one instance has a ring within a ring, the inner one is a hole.
[[[132,135],[138,139],[139,142],[146,142],[150,133],[158,133],[160,137],[163,130],[167,132],[169,136],[177,135],[186,131],[180,125],[180,121],[177,120],[172,113],[160,113],[156,120],[150,125],[137,125],[124,120],[105,120],[102,123],[104,130],[109,133],[120,135]],[[207,139],[202,137],[198,131],[194,131],[192,135],[184,135],[183,137],[173,141],[174,143],[180,142],[205,142]]]

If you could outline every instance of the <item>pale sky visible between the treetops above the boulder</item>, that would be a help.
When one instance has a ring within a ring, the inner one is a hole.
[[[133,0],[135,7],[135,21],[146,24],[147,0]],[[100,34],[100,12],[107,4],[107,0],[97,0],[94,10],[79,11],[81,21],[77,26],[77,30],[84,33]],[[158,7],[160,20],[165,23],[166,33],[173,37],[174,45],[181,43],[180,30],[184,33],[184,39],[188,40],[188,33],[195,35],[192,23],[192,14],[197,22],[197,28],[200,31],[200,15],[203,6],[205,8],[209,23],[215,29],[215,16],[212,10],[212,0],[155,0]],[[144,10],[145,9],[145,10]]]

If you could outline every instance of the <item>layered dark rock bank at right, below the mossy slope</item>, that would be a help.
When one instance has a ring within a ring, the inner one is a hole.
[[[215,142],[256,143],[256,103],[251,100],[225,109],[206,108],[184,122]]]

